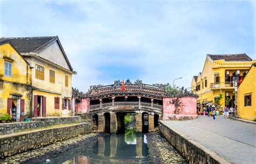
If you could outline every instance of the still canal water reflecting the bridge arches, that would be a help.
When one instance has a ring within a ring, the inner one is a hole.
[[[100,136],[84,151],[60,163],[151,163],[146,135],[135,131]],[[85,147],[86,149],[86,147]],[[60,158],[58,158],[59,160]],[[66,159],[66,158],[65,158]],[[54,160],[53,160],[54,161]]]

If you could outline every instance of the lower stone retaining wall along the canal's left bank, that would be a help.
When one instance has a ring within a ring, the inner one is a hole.
[[[89,133],[91,128],[92,125],[86,122],[78,125],[0,136],[0,159]]]

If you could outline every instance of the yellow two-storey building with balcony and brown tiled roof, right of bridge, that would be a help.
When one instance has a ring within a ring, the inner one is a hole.
[[[198,94],[197,100],[200,111],[209,104],[216,103],[220,94],[221,106],[235,105],[234,85],[244,78],[253,60],[247,54],[207,54],[203,71],[194,76],[191,82],[191,91]],[[225,99],[230,99],[225,104]]]

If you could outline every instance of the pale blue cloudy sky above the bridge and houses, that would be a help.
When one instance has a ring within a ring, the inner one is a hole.
[[[207,54],[255,54],[255,1],[5,1],[0,37],[58,36],[72,85],[190,87]]]

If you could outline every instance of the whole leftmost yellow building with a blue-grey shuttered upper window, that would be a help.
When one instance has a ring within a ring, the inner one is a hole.
[[[0,41],[0,113],[16,121],[31,115],[31,69],[28,61],[6,40]]]

